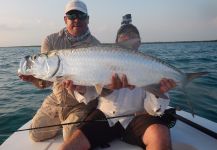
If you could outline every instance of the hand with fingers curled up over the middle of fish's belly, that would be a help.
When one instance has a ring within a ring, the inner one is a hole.
[[[111,79],[111,84],[108,85],[108,88],[110,90],[117,90],[117,89],[120,89],[120,88],[133,89],[133,88],[135,88],[135,86],[128,84],[128,80],[127,80],[126,75],[122,75],[121,78],[120,78],[117,74],[114,74],[112,76],[112,79]]]

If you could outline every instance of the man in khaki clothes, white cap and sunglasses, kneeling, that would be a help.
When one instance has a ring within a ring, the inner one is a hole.
[[[82,1],[73,0],[66,4],[64,21],[65,28],[46,37],[41,47],[41,53],[99,44],[99,41],[89,31],[88,11]],[[76,96],[82,94],[85,97],[91,88],[73,86],[74,93],[69,93],[67,89],[72,87],[72,81],[51,83],[24,75],[20,75],[20,78],[41,89],[53,85],[53,92],[44,100],[32,119],[32,128],[83,120],[97,105],[96,101],[88,105],[78,103],[75,100]],[[63,138],[67,139],[75,127],[76,125],[63,126]],[[32,130],[30,137],[34,141],[43,141],[54,137],[59,130],[60,127]]]

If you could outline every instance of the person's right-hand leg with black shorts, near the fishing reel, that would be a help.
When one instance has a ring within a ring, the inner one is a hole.
[[[167,115],[135,117],[126,129],[124,140],[147,150],[170,150],[172,146],[168,126],[171,127],[171,121],[173,118]]]

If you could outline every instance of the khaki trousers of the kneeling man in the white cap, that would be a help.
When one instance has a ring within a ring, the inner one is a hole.
[[[78,103],[74,107],[64,106],[55,103],[55,96],[49,95],[43,102],[40,109],[32,119],[31,127],[43,127],[63,123],[77,122],[84,120],[85,117],[96,108],[97,100],[90,102],[88,105]],[[53,138],[58,132],[63,132],[63,138],[66,140],[77,128],[78,124],[42,128],[30,130],[29,135],[33,141],[44,141]]]

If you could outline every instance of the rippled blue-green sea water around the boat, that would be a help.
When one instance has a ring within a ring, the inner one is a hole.
[[[0,48],[0,144],[29,121],[51,89],[39,90],[16,75],[23,56],[38,53],[40,47]],[[183,72],[209,72],[193,80],[186,89],[170,92],[173,107],[217,122],[217,42],[149,43],[140,51],[159,57]],[[189,106],[189,103],[191,106]]]

